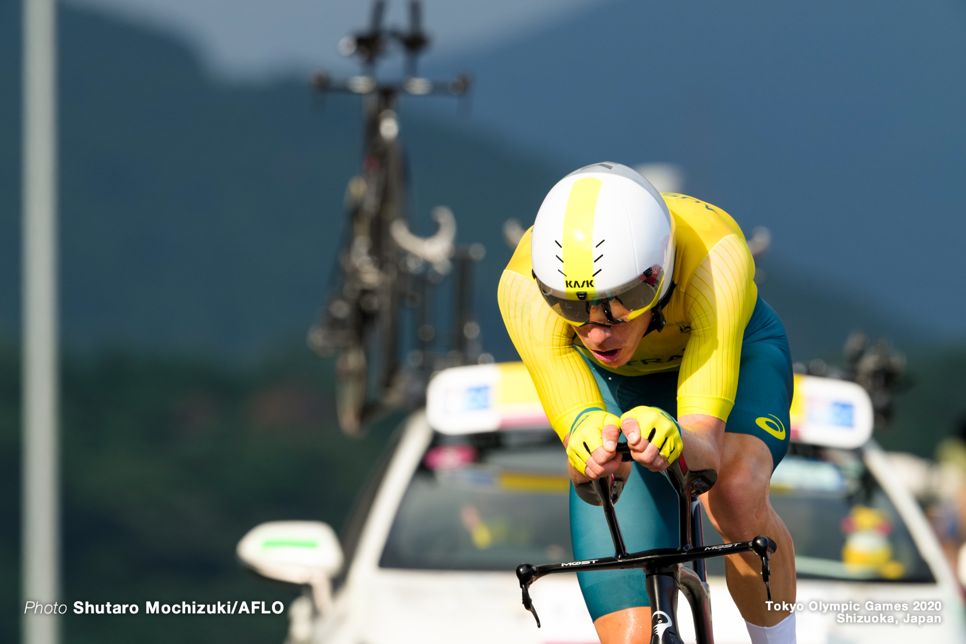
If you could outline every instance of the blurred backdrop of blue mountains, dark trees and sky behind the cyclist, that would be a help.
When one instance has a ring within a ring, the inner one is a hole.
[[[266,595],[236,564],[241,535],[270,519],[340,526],[402,419],[345,437],[333,362],[305,343],[363,157],[359,98],[321,97],[309,77],[355,73],[337,43],[369,11],[59,5],[64,597]],[[404,11],[389,3],[387,23]],[[746,235],[770,231],[756,281],[799,370],[847,369],[853,331],[885,340],[897,394],[876,438],[912,469],[961,478],[966,4],[426,0],[424,16],[421,72],[468,72],[472,89],[400,99],[408,218],[428,236],[445,205],[456,241],[485,246],[470,304],[480,350],[516,359],[496,299],[504,222],[526,228],[582,165],[650,164]],[[19,2],[0,0],[0,32],[0,611],[13,614]],[[952,552],[962,498],[931,490],[921,500]],[[281,641],[287,628],[185,618],[153,632],[142,619],[68,616],[65,641]],[[0,621],[0,639],[17,628]]]

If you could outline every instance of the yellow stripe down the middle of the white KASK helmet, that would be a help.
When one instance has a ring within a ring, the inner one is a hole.
[[[579,291],[594,291],[594,213],[602,183],[592,177],[576,181],[567,198],[561,259],[567,295],[574,299]]]

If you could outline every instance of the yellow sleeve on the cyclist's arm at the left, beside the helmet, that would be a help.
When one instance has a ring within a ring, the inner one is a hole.
[[[506,330],[536,385],[560,440],[587,408],[606,409],[597,382],[574,349],[574,331],[557,316],[530,275],[530,233],[503,270],[497,299]]]

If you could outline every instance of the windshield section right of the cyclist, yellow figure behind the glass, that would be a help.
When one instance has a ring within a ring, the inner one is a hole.
[[[931,582],[885,490],[858,452],[792,443],[772,475],[772,507],[795,544],[799,577]],[[705,543],[722,543],[705,519]],[[725,574],[722,559],[708,574]]]

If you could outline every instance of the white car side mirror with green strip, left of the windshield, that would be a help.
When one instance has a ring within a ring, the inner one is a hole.
[[[270,521],[248,531],[236,548],[241,564],[256,574],[312,588],[315,607],[332,605],[331,578],[342,569],[342,547],[322,521]]]

